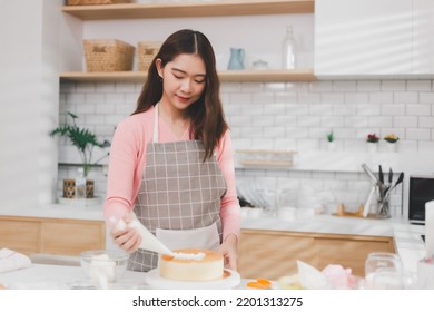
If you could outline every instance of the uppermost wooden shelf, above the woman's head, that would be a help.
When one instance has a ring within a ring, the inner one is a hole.
[[[313,13],[315,0],[226,0],[63,6],[81,20]]]

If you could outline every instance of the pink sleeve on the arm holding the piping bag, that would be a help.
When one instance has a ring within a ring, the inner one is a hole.
[[[120,218],[131,212],[137,196],[136,172],[139,164],[137,131],[130,123],[121,121],[115,131],[110,147],[107,176],[107,197],[103,205],[106,221]]]

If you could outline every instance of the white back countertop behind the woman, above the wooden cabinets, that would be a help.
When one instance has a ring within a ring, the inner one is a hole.
[[[68,206],[52,204],[45,207],[27,209],[1,209],[0,215],[34,216],[53,218],[76,218],[102,221],[102,204],[93,206]],[[310,232],[325,234],[347,234],[394,237],[396,250],[407,271],[415,273],[417,262],[424,257],[425,233],[423,225],[412,225],[406,217],[387,220],[339,217],[329,214],[309,218],[286,221],[269,216],[243,217],[241,227],[249,230],[276,230],[292,232]],[[112,248],[111,240],[107,240],[107,248]]]

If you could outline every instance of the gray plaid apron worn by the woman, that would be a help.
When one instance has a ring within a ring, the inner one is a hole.
[[[218,247],[221,242],[220,198],[226,182],[213,156],[205,162],[198,140],[158,143],[158,104],[154,142],[147,146],[144,179],[134,208],[138,220],[170,250]],[[129,270],[157,267],[158,254],[138,250]]]

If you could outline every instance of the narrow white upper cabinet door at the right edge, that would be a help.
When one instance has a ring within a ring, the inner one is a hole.
[[[413,1],[414,74],[434,74],[434,1]]]

